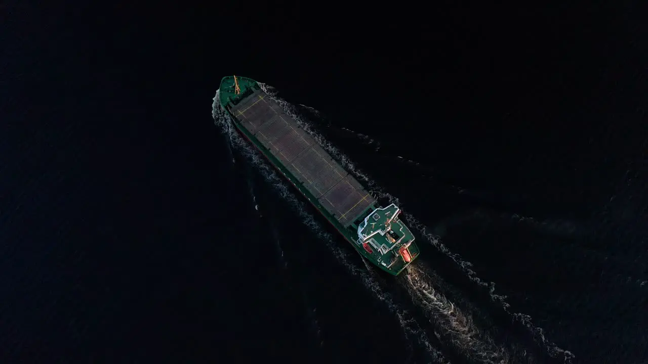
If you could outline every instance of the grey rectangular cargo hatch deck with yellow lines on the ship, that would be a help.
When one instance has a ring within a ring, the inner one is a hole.
[[[264,91],[255,91],[230,111],[344,227],[376,202]]]

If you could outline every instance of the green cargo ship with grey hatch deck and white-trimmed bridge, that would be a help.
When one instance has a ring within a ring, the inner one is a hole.
[[[220,106],[243,137],[369,262],[398,275],[419,256],[400,209],[365,190],[251,78],[226,76]]]

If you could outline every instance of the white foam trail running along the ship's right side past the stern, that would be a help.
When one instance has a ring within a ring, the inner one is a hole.
[[[359,168],[357,168],[347,157],[347,155],[343,154],[338,150],[338,148],[334,147],[330,142],[328,142],[322,135],[320,135],[316,130],[314,130],[312,124],[310,124],[307,120],[305,120],[303,117],[299,115],[297,112],[297,109],[290,103],[286,102],[282,98],[277,97],[277,93],[275,89],[266,84],[259,84],[261,89],[268,93],[268,95],[275,100],[283,109],[286,111],[290,117],[295,119],[297,124],[301,126],[304,130],[306,130],[308,133],[310,133],[316,141],[327,151],[329,152],[332,157],[334,157],[336,160],[340,161],[341,165],[351,172],[354,177],[356,177],[360,181],[364,181],[366,183],[367,187],[369,187],[370,192],[378,197],[378,198],[385,198],[388,199],[389,202],[395,203],[400,207],[401,210],[403,210],[404,217],[410,223],[410,227],[412,227],[414,230],[419,231],[419,233],[422,236],[422,240],[426,240],[430,244],[434,245],[435,248],[437,248],[439,251],[441,251],[444,255],[448,256],[450,259],[452,259],[459,267],[461,267],[461,270],[469,279],[478,284],[479,286],[483,286],[489,290],[489,294],[491,296],[492,301],[500,302],[502,305],[503,310],[505,310],[509,315],[512,317],[515,317],[515,319],[522,323],[524,326],[526,326],[533,334],[535,339],[542,345],[550,356],[553,358],[557,358],[558,356],[563,356],[564,357],[564,362],[565,363],[571,363],[572,358],[574,358],[572,352],[568,350],[564,350],[560,347],[558,347],[555,343],[549,341],[545,336],[544,336],[544,331],[542,328],[539,328],[537,326],[534,326],[533,323],[531,322],[531,317],[529,315],[526,315],[524,313],[516,313],[516,312],[511,312],[510,311],[510,304],[505,301],[506,297],[503,295],[498,295],[495,292],[495,284],[494,282],[485,282],[480,277],[477,276],[477,273],[472,270],[472,264],[470,262],[467,262],[461,258],[456,253],[453,253],[448,249],[443,243],[439,241],[437,236],[434,236],[434,234],[430,233],[428,227],[426,227],[424,224],[419,222],[414,216],[411,214],[408,214],[406,210],[404,209],[404,206],[402,203],[400,203],[398,198],[395,198],[391,194],[385,192],[381,187],[378,187],[373,179],[371,179],[367,174],[362,172]],[[416,163],[415,161],[411,161],[412,163]],[[457,187],[457,191],[459,193],[464,192],[462,188]]]

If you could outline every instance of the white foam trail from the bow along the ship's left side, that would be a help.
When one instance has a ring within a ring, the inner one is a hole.
[[[220,108],[220,106],[218,106],[218,104],[216,103],[216,98],[214,98],[213,107]],[[345,253],[345,251],[340,249],[338,245],[334,244],[332,236],[324,231],[321,225],[319,225],[319,223],[315,221],[314,217],[307,212],[305,203],[299,201],[295,197],[295,195],[290,192],[288,185],[277,176],[272,167],[268,165],[268,163],[265,163],[263,159],[261,159],[259,154],[257,154],[257,152],[253,150],[248,142],[244,141],[242,137],[235,133],[233,127],[231,126],[229,115],[218,111],[213,111],[212,115],[214,117],[214,124],[216,124],[216,126],[219,126],[224,133],[228,133],[230,135],[233,146],[237,148],[237,150],[239,150],[244,155],[244,157],[248,159],[248,161],[259,168],[262,176],[264,176],[266,181],[268,181],[268,183],[270,183],[270,185],[272,185],[272,187],[274,187],[275,190],[279,192],[282,198],[288,201],[288,204],[290,205],[290,207],[292,207],[292,209],[296,210],[296,212],[301,217],[302,222],[307,225],[310,230],[315,233],[316,236],[318,236],[318,238],[325,242],[333,255],[338,259],[338,262],[346,267],[349,273],[356,277],[359,277],[360,280],[362,280],[362,282],[364,283],[364,286],[371,290],[376,298],[386,303],[386,306],[388,306],[391,312],[395,313],[403,329],[406,339],[411,340],[412,337],[415,337],[422,348],[426,350],[426,352],[430,356],[430,359],[434,360],[434,363],[449,363],[449,361],[443,357],[443,354],[441,354],[439,350],[432,347],[424,330],[422,330],[421,327],[410,317],[408,312],[396,306],[391,296],[383,291],[380,286],[378,286],[378,282],[372,279],[369,276],[369,273],[365,271],[365,269],[361,269],[360,267],[357,267],[355,264],[353,264],[353,262],[351,262],[351,257],[349,256],[349,254]]]

